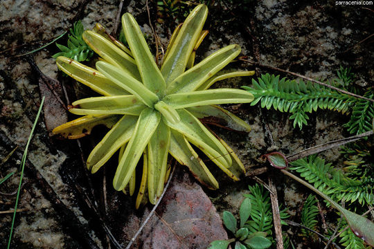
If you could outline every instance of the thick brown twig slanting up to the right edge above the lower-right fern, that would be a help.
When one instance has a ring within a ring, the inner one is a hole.
[[[340,145],[345,145],[348,142],[354,142],[356,140],[359,140],[360,138],[364,138],[366,136],[371,136],[371,135],[373,135],[373,131],[366,131],[366,132],[361,133],[361,134],[356,135],[356,136],[350,136],[348,138],[342,138],[342,139],[339,139],[339,140],[326,142],[323,145],[317,145],[317,146],[314,146],[314,147],[310,147],[308,149],[304,149],[303,151],[300,151],[300,152],[298,152],[296,154],[293,154],[291,156],[287,156],[287,160],[289,162],[292,162],[294,160],[298,160],[298,159],[303,158],[305,156],[310,156],[312,154],[317,154],[321,151],[326,151],[326,149],[331,149],[333,147],[337,147],[337,146],[340,146]]]

